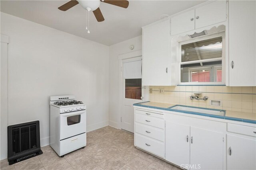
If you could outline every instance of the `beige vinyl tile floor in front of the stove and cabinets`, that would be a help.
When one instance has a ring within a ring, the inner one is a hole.
[[[87,133],[87,145],[63,158],[48,145],[39,156],[1,170],[179,170],[176,166],[134,147],[134,135],[110,126]]]

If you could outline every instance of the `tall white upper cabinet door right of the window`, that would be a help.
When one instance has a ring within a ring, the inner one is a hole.
[[[256,2],[228,3],[229,86],[256,86]]]

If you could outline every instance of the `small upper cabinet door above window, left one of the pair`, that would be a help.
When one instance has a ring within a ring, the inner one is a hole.
[[[171,34],[176,35],[195,29],[195,10],[174,16],[171,19]]]

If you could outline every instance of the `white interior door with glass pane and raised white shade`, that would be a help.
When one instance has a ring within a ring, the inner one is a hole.
[[[141,69],[142,57],[122,60],[121,129],[132,133],[134,133],[133,104],[142,102]]]

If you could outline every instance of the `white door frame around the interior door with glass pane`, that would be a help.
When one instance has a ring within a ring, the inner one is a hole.
[[[122,77],[123,77],[122,76],[122,60],[131,59],[131,58],[135,58],[135,57],[141,57],[141,56],[142,56],[142,50],[118,55],[118,129],[121,129]],[[143,63],[143,61],[142,61],[142,63]],[[142,96],[144,97],[143,101],[148,100],[148,97],[146,97],[147,95],[145,94],[146,89],[147,89],[147,87],[144,90],[142,89]]]

